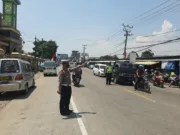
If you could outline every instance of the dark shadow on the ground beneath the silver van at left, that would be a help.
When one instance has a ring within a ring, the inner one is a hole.
[[[33,93],[35,89],[36,87],[30,88],[28,94],[24,94],[23,91],[6,92],[0,95],[0,101],[10,101],[13,99],[26,99]]]

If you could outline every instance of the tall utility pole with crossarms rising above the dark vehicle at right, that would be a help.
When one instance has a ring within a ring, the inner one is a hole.
[[[124,46],[124,58],[126,58],[126,47],[127,47],[127,40],[128,40],[128,36],[131,36],[132,34],[130,34],[131,29],[133,28],[133,26],[129,26],[129,25],[124,25],[123,24],[123,31],[125,32],[124,36],[126,36],[125,39],[125,46]]]

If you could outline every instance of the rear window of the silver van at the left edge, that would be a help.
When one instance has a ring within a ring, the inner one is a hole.
[[[19,64],[17,60],[2,60],[1,62],[1,73],[18,73]]]

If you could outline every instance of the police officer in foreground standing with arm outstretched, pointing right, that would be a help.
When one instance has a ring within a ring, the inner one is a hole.
[[[69,104],[71,99],[71,73],[75,71],[77,68],[81,68],[83,65],[78,65],[77,67],[70,69],[69,62],[63,61],[62,70],[59,73],[59,90],[58,94],[61,95],[60,98],[60,113],[61,115],[70,115],[72,110],[69,110]]]

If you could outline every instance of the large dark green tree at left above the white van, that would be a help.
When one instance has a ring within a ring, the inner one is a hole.
[[[35,49],[36,49],[36,52],[37,52],[36,56],[42,57],[42,58],[51,59],[54,53],[56,53],[57,48],[58,48],[56,42],[52,40],[49,40],[49,41],[37,40],[35,44],[36,44],[36,48],[34,47],[33,50],[35,52]],[[33,53],[33,55],[35,55],[35,53]]]

